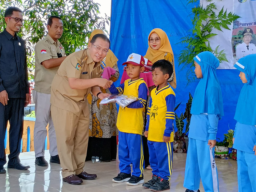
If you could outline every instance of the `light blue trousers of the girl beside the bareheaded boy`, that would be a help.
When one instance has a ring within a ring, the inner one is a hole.
[[[214,147],[210,148],[208,141],[189,138],[183,186],[190,190],[198,190],[200,178],[205,192],[219,191]]]

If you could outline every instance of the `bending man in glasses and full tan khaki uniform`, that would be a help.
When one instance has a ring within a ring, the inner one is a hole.
[[[82,179],[95,179],[87,174],[84,163],[88,144],[90,91],[100,99],[108,97],[99,87],[113,83],[100,78],[101,60],[106,56],[110,40],[104,34],[93,37],[84,49],[69,55],[60,65],[52,82],[51,112],[64,182],[80,184]]]

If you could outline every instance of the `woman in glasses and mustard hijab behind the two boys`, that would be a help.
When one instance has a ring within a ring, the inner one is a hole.
[[[172,52],[172,47],[168,36],[165,31],[159,28],[153,29],[150,34],[148,35],[148,49],[147,53],[144,56],[152,63],[155,63],[158,60],[165,59],[170,61],[173,67],[173,74],[168,79],[169,84],[175,89],[176,88],[176,75],[175,75],[175,68],[174,68],[174,56]],[[149,97],[147,100],[146,111],[150,101],[150,93],[156,86],[153,85],[148,87]],[[151,169],[149,165],[149,154],[148,154],[148,147],[147,147],[147,139],[143,136],[143,146],[144,146],[144,159],[145,159],[145,167],[147,169]]]

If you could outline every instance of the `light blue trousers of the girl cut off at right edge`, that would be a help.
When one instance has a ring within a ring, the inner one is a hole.
[[[256,156],[237,150],[237,178],[239,192],[256,192]]]

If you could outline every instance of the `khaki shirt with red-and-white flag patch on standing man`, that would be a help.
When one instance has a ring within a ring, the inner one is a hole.
[[[48,59],[58,58],[57,53],[60,53],[62,57],[65,56],[65,50],[60,42],[58,40],[55,42],[48,34],[35,45],[35,91],[51,94],[52,81],[59,67],[46,69],[41,63]]]

